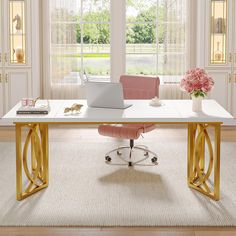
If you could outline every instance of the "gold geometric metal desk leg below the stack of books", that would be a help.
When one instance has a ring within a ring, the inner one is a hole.
[[[22,147],[23,127],[29,131]],[[48,125],[16,123],[15,128],[16,199],[22,200],[48,186]],[[28,158],[29,146],[31,158]]]

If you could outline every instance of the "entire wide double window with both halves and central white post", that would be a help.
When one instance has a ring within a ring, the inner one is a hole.
[[[43,1],[44,22],[50,18],[50,24],[44,24],[45,31],[50,32],[44,35],[45,94],[51,98],[84,98],[80,86],[84,71],[96,81],[118,82],[124,73],[158,76],[167,85],[160,90],[179,90],[169,85],[179,83],[187,68],[195,65],[195,51],[190,55],[193,44],[189,44],[194,28],[193,2]]]

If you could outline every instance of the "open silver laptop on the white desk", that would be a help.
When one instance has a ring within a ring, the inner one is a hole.
[[[89,107],[126,109],[132,106],[124,103],[121,83],[87,82],[85,89]]]

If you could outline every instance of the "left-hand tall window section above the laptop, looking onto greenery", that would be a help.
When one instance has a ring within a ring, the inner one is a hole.
[[[51,83],[110,78],[110,1],[50,0]]]

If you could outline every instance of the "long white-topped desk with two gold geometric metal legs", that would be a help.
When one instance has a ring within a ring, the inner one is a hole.
[[[83,104],[81,113],[65,115],[64,108],[74,103]],[[133,106],[125,110],[89,108],[85,100],[51,100],[48,115],[16,115],[17,104],[3,119],[16,126],[17,200],[48,186],[48,125],[49,124],[102,124],[102,123],[156,123],[188,124],[188,173],[191,188],[219,200],[220,198],[220,129],[221,124],[233,117],[214,100],[203,101],[203,112],[192,112],[191,100],[164,100],[163,106],[149,106],[147,100],[129,100]],[[214,145],[208,128],[214,128]],[[22,127],[29,133],[22,148]],[[28,165],[28,147],[31,144],[31,165]],[[208,148],[208,162],[205,148]],[[28,179],[22,184],[22,172]],[[214,175],[214,183],[209,178]]]

